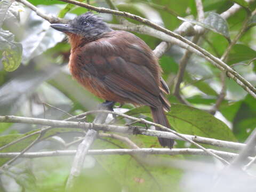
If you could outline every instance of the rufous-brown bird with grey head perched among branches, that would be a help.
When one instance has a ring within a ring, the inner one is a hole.
[[[51,27],[68,36],[70,73],[87,90],[106,100],[107,105],[149,106],[153,121],[171,129],[165,115],[171,105],[164,97],[170,90],[161,77],[158,58],[141,38],[111,29],[92,12]],[[158,141],[163,147],[173,148],[172,139],[159,137]]]

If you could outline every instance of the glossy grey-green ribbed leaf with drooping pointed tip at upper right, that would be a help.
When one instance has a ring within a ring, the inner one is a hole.
[[[210,12],[209,15],[205,18],[204,22],[199,22],[195,20],[189,20],[185,18],[178,17],[180,20],[191,22],[195,25],[199,25],[206,29],[210,29],[215,33],[218,33],[230,42],[230,35],[228,29],[228,23],[223,19],[218,13]]]

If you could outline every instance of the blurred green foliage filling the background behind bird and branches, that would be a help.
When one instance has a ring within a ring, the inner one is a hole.
[[[57,0],[29,0],[41,11],[59,15],[66,19],[74,18],[87,9],[63,3]],[[84,1],[88,2],[88,1]],[[91,0],[94,6],[108,7],[103,0]],[[123,0],[113,1],[120,11],[127,11],[145,17],[150,21],[175,30],[183,22],[177,17],[210,29],[205,33],[199,45],[217,57],[229,46],[227,39],[234,39],[241,30],[243,21],[250,17],[248,12],[254,10],[256,3],[247,4],[244,0],[203,1],[206,19],[197,21],[197,10],[194,0]],[[236,2],[244,8],[227,21],[220,18]],[[100,14],[107,22],[117,23],[114,17]],[[208,15],[208,16],[207,16]],[[137,21],[128,19],[131,22]],[[250,18],[246,33],[230,50],[227,63],[239,74],[256,85],[256,23],[255,15]],[[63,119],[67,114],[58,109],[44,106],[43,102],[61,108],[71,115],[96,109],[101,99],[87,92],[70,76],[67,63],[70,46],[65,35],[50,28],[49,22],[38,17],[35,12],[14,1],[0,1],[0,115],[19,115],[48,119]],[[138,34],[154,49],[161,40]],[[188,37],[190,38],[190,37]],[[227,38],[227,39],[226,39]],[[163,78],[173,90],[174,77],[179,70],[179,62],[184,50],[172,46],[159,59],[163,68]],[[250,62],[252,61],[252,62]],[[10,73],[10,71],[12,71]],[[215,115],[206,110],[213,107],[219,98],[222,86],[220,71],[209,62],[193,55],[181,83],[181,92],[193,107],[179,103],[172,94],[168,95],[172,103],[167,118],[173,129],[185,134],[244,142],[256,125],[256,102],[232,79],[226,77],[227,95],[220,103]],[[148,107],[134,108],[129,104],[118,108],[126,114],[151,120]],[[87,117],[86,121],[92,121]],[[119,119],[118,123],[131,123]],[[140,126],[145,126],[141,125]],[[41,129],[42,126],[26,124],[0,124],[0,146],[26,137]],[[81,137],[80,130],[51,129],[44,133],[41,142],[30,151],[65,149],[51,136],[58,135],[66,143]],[[83,134],[82,134],[83,135]],[[125,135],[127,136],[127,135]],[[25,138],[1,152],[21,151],[38,137]],[[159,147],[157,139],[144,135],[129,135],[129,138],[140,147]],[[180,148],[187,143],[177,141]],[[127,148],[123,142],[111,138],[98,139],[94,149]],[[69,149],[76,149],[71,146]],[[187,159],[188,156],[149,155],[146,159],[161,157],[166,159]],[[141,163],[141,156],[101,155],[86,157],[83,175],[77,180],[76,191],[184,191],[182,176],[184,172],[174,167],[152,166]],[[144,156],[142,157],[144,158]],[[202,160],[202,157],[197,157]],[[3,165],[6,158],[0,159]],[[161,160],[161,161],[162,161]],[[206,159],[203,159],[206,161]],[[0,191],[64,191],[68,178],[71,157],[42,157],[35,159],[18,159],[8,172],[0,177]],[[10,187],[12,186],[12,187]],[[15,187],[13,187],[15,186]],[[14,189],[15,188],[15,189]]]

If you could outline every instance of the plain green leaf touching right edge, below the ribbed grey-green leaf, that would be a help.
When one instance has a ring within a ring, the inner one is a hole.
[[[234,64],[241,61],[252,60],[256,57],[256,51],[251,49],[249,46],[243,44],[235,44],[230,51],[228,57],[228,64]]]

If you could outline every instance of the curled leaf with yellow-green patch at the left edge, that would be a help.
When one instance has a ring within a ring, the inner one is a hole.
[[[6,71],[14,71],[20,66],[22,46],[14,41],[14,35],[9,31],[0,29],[0,51],[2,63]]]

